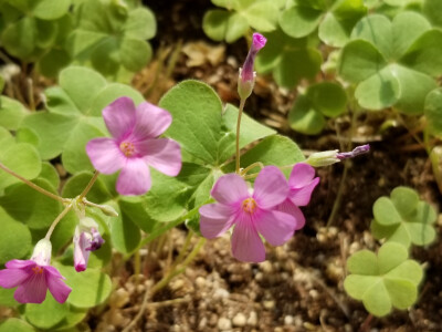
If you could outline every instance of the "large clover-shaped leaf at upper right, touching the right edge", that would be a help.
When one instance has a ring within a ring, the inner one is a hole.
[[[442,74],[442,31],[431,29],[417,12],[390,21],[372,14],[361,19],[341,53],[339,74],[357,84],[355,96],[368,110],[394,106],[419,114],[427,94]]]

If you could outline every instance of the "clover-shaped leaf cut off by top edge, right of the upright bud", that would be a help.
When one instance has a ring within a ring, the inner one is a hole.
[[[319,28],[319,38],[332,46],[343,46],[356,22],[366,14],[362,0],[294,1],[280,17],[281,28],[293,38],[311,34]]]

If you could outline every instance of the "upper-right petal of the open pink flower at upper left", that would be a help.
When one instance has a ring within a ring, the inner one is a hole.
[[[158,137],[172,123],[169,112],[148,102],[138,105],[136,116],[137,122],[133,132],[135,141]]]

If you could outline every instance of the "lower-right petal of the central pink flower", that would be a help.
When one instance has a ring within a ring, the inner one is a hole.
[[[255,226],[269,243],[282,246],[293,237],[296,220],[293,216],[282,211],[259,211]]]

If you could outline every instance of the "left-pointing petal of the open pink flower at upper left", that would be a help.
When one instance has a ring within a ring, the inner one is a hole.
[[[113,174],[126,163],[126,157],[112,138],[91,139],[86,144],[86,153],[95,169],[103,174]]]

